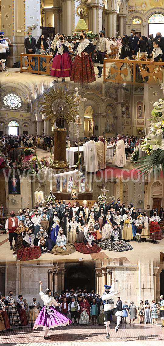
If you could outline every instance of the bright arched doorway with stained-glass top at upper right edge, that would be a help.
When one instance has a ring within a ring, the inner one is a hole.
[[[148,36],[149,34],[153,34],[154,37],[156,33],[163,32],[164,25],[164,16],[161,13],[154,13],[154,15],[150,16],[148,19]]]

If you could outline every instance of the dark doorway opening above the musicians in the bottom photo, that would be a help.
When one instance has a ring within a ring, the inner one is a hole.
[[[65,290],[78,287],[87,292],[95,290],[95,264],[94,263],[66,263],[65,264]]]

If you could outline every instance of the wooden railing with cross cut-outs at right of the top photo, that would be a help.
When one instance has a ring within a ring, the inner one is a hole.
[[[111,67],[110,66],[106,66],[106,64],[112,64],[115,63],[116,68],[112,68],[111,73],[111,77],[113,74],[117,73],[115,76],[115,79],[113,78],[106,78],[108,71]],[[132,76],[132,81],[126,81],[126,76],[127,76],[127,67],[124,67],[123,64],[128,63],[129,67],[131,68],[131,76]],[[152,64],[149,63],[148,61],[144,61],[144,60],[121,60],[121,59],[104,59],[104,82],[115,82],[115,83],[122,83],[122,82],[126,82],[126,83],[130,83],[130,84],[137,84],[139,82],[136,82],[136,66],[138,64],[142,64],[142,65],[146,65],[145,69],[142,69],[141,66],[141,75],[142,78],[148,77],[148,80],[146,80],[144,83],[148,83],[148,84],[156,84],[155,78],[158,80],[162,80],[163,81],[163,72],[162,71],[155,71],[155,68],[157,66],[164,66],[164,62],[153,62]],[[123,67],[123,68],[122,68]],[[106,69],[108,69],[108,71],[106,71]],[[125,78],[122,78],[122,75],[125,76]],[[141,84],[141,82],[139,83]]]

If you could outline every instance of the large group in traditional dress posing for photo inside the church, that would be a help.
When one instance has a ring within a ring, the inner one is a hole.
[[[79,203],[78,203],[79,204]],[[141,243],[151,239],[152,243],[163,239],[160,228],[163,208],[158,216],[156,209],[147,217],[146,211],[129,204],[106,204],[94,202],[89,209],[86,200],[66,203],[65,200],[48,201],[36,205],[30,211],[24,208],[12,210],[6,220],[10,249],[14,250],[17,260],[26,261],[39,258],[50,252],[54,255],[69,255],[75,251],[84,254],[98,253],[101,249],[108,251],[132,250],[131,240]],[[13,247],[13,239],[15,245]],[[141,240],[142,239],[142,240]]]

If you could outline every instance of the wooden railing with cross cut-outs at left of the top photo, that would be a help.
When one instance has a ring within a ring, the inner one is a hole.
[[[27,69],[23,68],[23,61],[22,58],[26,56],[28,60],[25,60],[25,66],[28,66]],[[35,67],[35,61],[32,60],[32,58],[35,57],[38,59],[38,69],[33,70],[31,66]],[[40,58],[45,58],[46,61],[42,61],[42,67],[45,68],[45,71],[40,71]],[[51,67],[52,67],[52,61],[50,63],[50,60],[52,59],[52,55],[46,55],[46,54],[20,54],[20,72],[32,72],[37,74],[48,74],[50,75]]]

